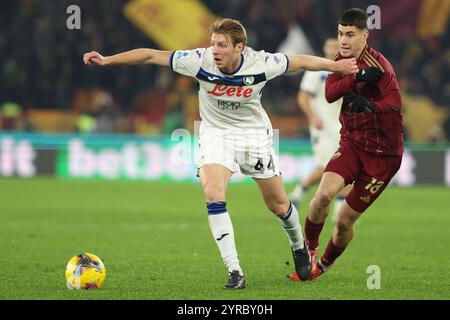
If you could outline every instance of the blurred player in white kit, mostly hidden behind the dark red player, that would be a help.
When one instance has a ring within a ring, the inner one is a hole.
[[[323,47],[325,58],[334,60],[338,50],[339,46],[336,38],[325,40]],[[303,181],[297,183],[289,196],[291,202],[297,208],[299,208],[308,189],[320,181],[328,161],[339,148],[341,137],[339,134],[341,129],[339,113],[342,99],[333,103],[328,103],[325,99],[325,80],[328,74],[329,72],[327,71],[305,71],[300,83],[297,102],[309,122],[313,158],[316,167]],[[350,189],[351,186],[346,187],[335,199],[334,213],[339,210]],[[335,217],[335,214],[333,216]],[[333,218],[333,220],[335,219]]]

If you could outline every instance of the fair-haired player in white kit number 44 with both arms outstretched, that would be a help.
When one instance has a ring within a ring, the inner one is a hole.
[[[355,59],[338,62],[324,58],[286,56],[255,51],[246,46],[247,34],[233,19],[218,19],[209,29],[211,46],[193,50],[136,49],[103,57],[85,53],[85,64],[156,64],[195,77],[199,83],[199,177],[208,210],[208,221],[223,262],[228,269],[225,289],[242,289],[245,277],[239,264],[233,225],[226,208],[226,189],[234,164],[258,184],[267,208],[280,220],[289,239],[299,278],[311,272],[309,256],[297,209],[283,187],[278,158],[272,148],[272,125],[261,106],[267,81],[285,72],[328,70],[358,72]]]

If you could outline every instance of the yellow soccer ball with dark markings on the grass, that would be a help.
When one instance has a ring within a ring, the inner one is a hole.
[[[105,280],[106,269],[95,254],[85,252],[72,257],[66,267],[69,289],[97,289]]]

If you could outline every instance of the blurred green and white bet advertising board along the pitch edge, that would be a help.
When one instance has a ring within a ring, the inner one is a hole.
[[[0,177],[196,182],[197,140],[189,134],[1,134]],[[303,179],[314,169],[309,141],[280,140],[274,148],[285,182]],[[235,169],[232,182],[250,181]],[[450,186],[450,146],[409,146],[392,183]]]

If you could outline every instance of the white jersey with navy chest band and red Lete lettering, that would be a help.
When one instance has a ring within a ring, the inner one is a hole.
[[[289,60],[282,53],[255,51],[246,47],[241,64],[225,74],[214,63],[212,48],[174,51],[172,70],[197,79],[202,125],[219,129],[272,129],[261,106],[267,81],[285,73]]]

